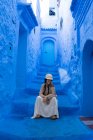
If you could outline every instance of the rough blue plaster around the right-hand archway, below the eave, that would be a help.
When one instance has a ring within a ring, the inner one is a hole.
[[[88,39],[93,40],[93,4],[91,5],[86,17],[80,27],[80,45],[77,44],[78,36],[77,33],[74,35],[76,39],[74,40],[74,53],[73,59],[70,63],[70,72],[72,74],[72,81],[74,82],[73,89],[76,95],[81,99],[83,92],[82,83],[82,56],[84,44]],[[77,30],[75,30],[77,32]],[[87,56],[86,56],[87,57]]]

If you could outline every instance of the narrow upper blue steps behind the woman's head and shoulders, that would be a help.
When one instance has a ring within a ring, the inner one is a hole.
[[[45,75],[51,73],[53,75],[53,84],[55,85],[57,94],[62,94],[60,85],[60,77],[57,66],[44,66],[41,65],[37,71],[36,77],[31,81],[28,88],[37,90],[39,92],[41,85],[44,83]],[[35,87],[35,88],[34,88]]]

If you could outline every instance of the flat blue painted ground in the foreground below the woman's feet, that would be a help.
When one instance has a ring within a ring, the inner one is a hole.
[[[0,140],[93,140],[93,131],[75,116],[57,120],[9,117],[0,120]]]

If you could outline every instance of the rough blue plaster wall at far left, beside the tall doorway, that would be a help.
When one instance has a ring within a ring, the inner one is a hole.
[[[17,24],[16,0],[0,0],[0,104],[15,89]]]

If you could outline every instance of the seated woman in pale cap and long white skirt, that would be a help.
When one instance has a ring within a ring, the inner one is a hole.
[[[51,74],[46,74],[45,83],[41,86],[39,96],[36,98],[33,118],[59,118],[57,95],[52,80],[53,76]]]

